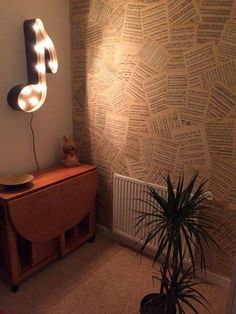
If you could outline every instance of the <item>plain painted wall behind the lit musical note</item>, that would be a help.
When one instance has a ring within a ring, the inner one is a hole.
[[[34,113],[40,169],[60,162],[62,137],[72,134],[71,53],[68,0],[0,0],[0,175],[32,172],[30,114],[11,109],[8,91],[27,82],[23,22],[41,18],[54,42],[59,69],[47,74],[46,101]]]

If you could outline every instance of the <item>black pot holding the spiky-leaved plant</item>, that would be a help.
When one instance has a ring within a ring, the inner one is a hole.
[[[146,295],[140,305],[140,314],[176,314],[176,308],[174,304],[169,305],[168,309],[165,309],[165,295],[159,293],[150,293]]]

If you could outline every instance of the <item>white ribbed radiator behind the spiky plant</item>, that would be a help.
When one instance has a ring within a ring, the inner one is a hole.
[[[149,184],[155,188],[158,193],[166,198],[167,189],[162,186]],[[151,200],[151,197],[145,192],[147,191],[147,183],[115,174],[113,182],[113,233],[118,234],[131,242],[135,243],[142,239],[145,239],[144,228],[136,234],[137,228],[135,224],[137,222],[136,217],[138,213],[136,211],[148,212],[151,207],[145,204],[142,200]],[[155,237],[147,246],[150,249],[156,249],[158,245],[158,237]],[[186,243],[183,243],[183,250],[185,250]],[[193,247],[192,250],[194,251]],[[189,256],[186,254],[186,262],[189,260]]]

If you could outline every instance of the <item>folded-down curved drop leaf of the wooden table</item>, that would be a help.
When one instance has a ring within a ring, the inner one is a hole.
[[[97,171],[65,180],[8,203],[16,231],[31,242],[46,242],[94,210]]]

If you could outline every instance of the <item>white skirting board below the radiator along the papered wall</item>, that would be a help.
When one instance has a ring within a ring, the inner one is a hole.
[[[120,244],[123,244],[131,249],[136,249],[138,248],[138,246],[134,246],[135,243],[133,240],[129,240],[125,237],[122,237],[120,234],[118,233],[114,233],[112,232],[110,229],[102,226],[102,225],[99,225],[97,224],[97,233],[98,234],[101,234],[103,235],[104,237],[107,237],[115,242],[118,242]],[[145,250],[145,253],[148,255],[148,256],[153,256],[153,253],[154,251],[152,249],[147,249]],[[228,278],[225,278],[223,276],[220,276],[216,273],[213,273],[211,271],[207,271],[206,272],[206,278],[204,278],[204,275],[201,274],[200,272],[198,273],[198,277],[200,279],[204,279],[204,281],[206,282],[209,282],[211,284],[214,284],[216,286],[219,286],[219,287],[222,287],[222,288],[225,288],[225,289],[229,289],[230,287],[230,279]]]

